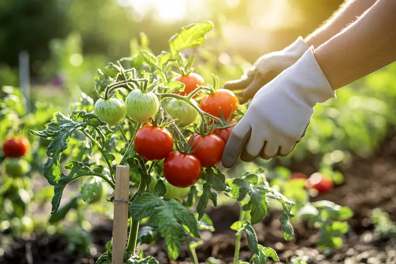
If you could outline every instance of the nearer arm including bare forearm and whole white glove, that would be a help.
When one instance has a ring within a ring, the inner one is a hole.
[[[286,156],[309,124],[317,103],[336,90],[396,60],[396,1],[378,0],[354,23],[262,87],[234,127],[222,163],[241,156]]]

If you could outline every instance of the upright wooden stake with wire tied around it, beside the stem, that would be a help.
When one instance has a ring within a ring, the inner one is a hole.
[[[125,254],[128,233],[129,170],[129,166],[116,166],[111,264],[123,264]]]

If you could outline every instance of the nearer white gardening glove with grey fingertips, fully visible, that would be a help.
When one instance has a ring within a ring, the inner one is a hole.
[[[286,156],[301,140],[316,103],[336,95],[320,69],[313,48],[253,97],[233,129],[223,153],[224,167],[256,157]]]

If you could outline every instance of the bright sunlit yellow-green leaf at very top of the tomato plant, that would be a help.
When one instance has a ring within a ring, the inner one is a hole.
[[[206,33],[212,28],[213,23],[211,21],[182,27],[178,33],[169,39],[170,52],[175,57],[184,48],[202,46],[206,40]]]

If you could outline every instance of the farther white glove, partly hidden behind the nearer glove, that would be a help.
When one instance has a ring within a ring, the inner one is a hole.
[[[242,90],[235,95],[241,104],[253,98],[255,93],[278,76],[283,70],[292,66],[308,50],[301,37],[282,51],[272,52],[259,57],[253,66],[248,68],[239,80],[226,82],[224,88],[228,90]]]

